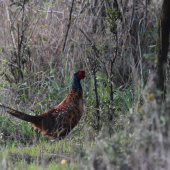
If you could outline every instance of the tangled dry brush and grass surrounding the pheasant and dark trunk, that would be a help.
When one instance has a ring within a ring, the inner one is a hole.
[[[0,102],[38,115],[78,70],[84,115],[64,140],[0,112],[0,169],[168,169],[166,97],[155,85],[162,1],[0,1]],[[167,35],[168,36],[168,35]]]

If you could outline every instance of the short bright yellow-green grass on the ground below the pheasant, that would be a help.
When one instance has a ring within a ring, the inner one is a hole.
[[[94,144],[94,143],[93,143]],[[93,145],[92,144],[92,145]],[[44,141],[39,140],[33,145],[11,142],[8,146],[1,145],[1,166],[18,169],[68,169],[73,167],[73,154],[83,148],[80,140]],[[65,161],[64,161],[65,160]],[[3,165],[5,164],[5,165]],[[62,165],[65,164],[65,165]]]

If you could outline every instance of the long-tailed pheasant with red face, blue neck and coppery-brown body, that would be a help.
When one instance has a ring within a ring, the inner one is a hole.
[[[74,74],[72,88],[64,100],[53,109],[41,115],[28,115],[0,103],[0,107],[12,116],[30,122],[43,136],[64,138],[78,124],[83,115],[83,90],[80,81],[85,78],[85,71]]]

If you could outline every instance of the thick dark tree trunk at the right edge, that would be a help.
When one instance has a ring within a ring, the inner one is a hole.
[[[158,21],[158,33],[156,43],[156,86],[163,92],[163,98],[166,93],[166,63],[169,45],[170,31],[170,0],[164,0],[162,11]]]

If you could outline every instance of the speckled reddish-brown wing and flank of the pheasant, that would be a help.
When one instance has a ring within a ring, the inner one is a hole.
[[[51,137],[66,136],[81,118],[80,110],[75,104],[58,105],[41,115],[44,117],[43,134]]]

